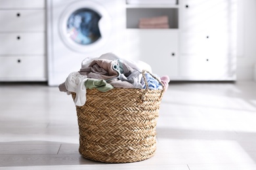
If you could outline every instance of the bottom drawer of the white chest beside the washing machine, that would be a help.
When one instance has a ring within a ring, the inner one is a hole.
[[[0,57],[0,80],[45,80],[45,56]]]

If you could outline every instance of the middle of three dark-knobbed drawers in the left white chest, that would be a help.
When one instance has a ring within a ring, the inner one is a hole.
[[[0,55],[45,54],[45,33],[0,33]]]

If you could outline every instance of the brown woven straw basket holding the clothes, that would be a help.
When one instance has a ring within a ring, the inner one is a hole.
[[[154,155],[163,90],[148,90],[146,86],[146,90],[87,90],[85,105],[76,106],[79,153],[84,158],[126,163]],[[72,97],[75,98],[75,93]]]

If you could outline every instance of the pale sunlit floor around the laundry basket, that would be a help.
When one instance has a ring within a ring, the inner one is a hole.
[[[77,151],[75,106],[44,84],[0,84],[0,169],[256,169],[256,82],[171,83],[149,160],[98,163]]]

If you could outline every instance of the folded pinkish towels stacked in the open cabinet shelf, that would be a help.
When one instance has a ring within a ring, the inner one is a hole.
[[[156,16],[152,18],[140,18],[139,28],[169,28],[168,16]]]

